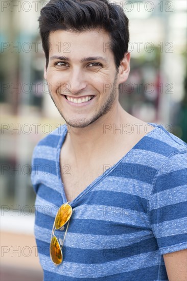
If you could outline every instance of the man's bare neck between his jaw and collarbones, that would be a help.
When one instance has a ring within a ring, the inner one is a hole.
[[[107,114],[89,126],[85,128],[71,127],[65,139],[66,149],[75,161],[96,157],[104,149],[108,151],[114,145],[116,139],[121,136],[119,133],[115,134],[115,130],[117,132],[120,124],[128,122],[129,114],[118,103]]]

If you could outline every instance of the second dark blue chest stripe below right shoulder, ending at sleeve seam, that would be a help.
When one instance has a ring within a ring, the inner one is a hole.
[[[121,162],[108,176],[126,177],[151,184],[155,173],[156,169],[148,166]]]

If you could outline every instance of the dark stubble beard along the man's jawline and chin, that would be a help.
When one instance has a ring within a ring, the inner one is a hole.
[[[51,95],[51,92],[49,90],[50,97],[67,125],[69,125],[73,128],[85,128],[85,127],[89,126],[90,124],[92,124],[93,122],[96,122],[101,116],[108,113],[110,111],[110,109],[112,108],[112,105],[116,98],[116,85],[115,84],[116,84],[117,78],[118,78],[118,72],[115,73],[115,78],[114,78],[114,82],[112,84],[112,89],[111,89],[110,95],[109,95],[108,99],[106,100],[105,104],[99,109],[98,112],[96,112],[93,116],[91,116],[91,118],[89,120],[86,120],[85,118],[72,119],[72,120],[66,119],[65,116],[63,115],[63,113],[60,111],[60,109],[56,105],[56,103]]]

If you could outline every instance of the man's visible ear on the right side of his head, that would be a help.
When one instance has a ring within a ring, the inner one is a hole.
[[[119,66],[119,84],[125,82],[130,72],[130,53],[125,53]]]

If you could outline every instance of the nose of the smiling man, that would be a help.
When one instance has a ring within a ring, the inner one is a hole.
[[[72,69],[68,79],[68,91],[72,95],[78,95],[87,86],[85,76],[81,69]]]

